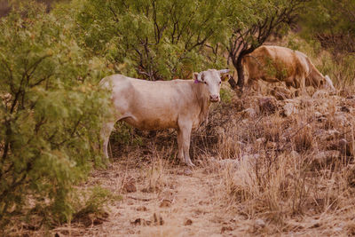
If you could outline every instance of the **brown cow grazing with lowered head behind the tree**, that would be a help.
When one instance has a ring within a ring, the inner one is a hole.
[[[303,52],[280,46],[260,46],[242,61],[248,74],[248,84],[259,78],[269,82],[284,82],[288,87],[304,90],[305,86],[335,90],[332,81],[319,73]]]

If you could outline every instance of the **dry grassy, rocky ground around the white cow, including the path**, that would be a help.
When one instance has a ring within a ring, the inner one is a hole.
[[[355,234],[353,88],[293,99],[280,87],[261,88],[264,96],[250,91],[213,108],[193,135],[195,170],[179,166],[173,130],[126,128],[130,142],[115,134],[112,167],[94,171],[84,187],[99,184],[122,201],[51,233]]]

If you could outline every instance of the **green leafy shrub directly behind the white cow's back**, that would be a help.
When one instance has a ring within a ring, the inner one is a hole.
[[[85,0],[75,6],[82,45],[109,59],[118,73],[170,80],[221,66],[217,51],[201,53],[223,31],[217,0]]]

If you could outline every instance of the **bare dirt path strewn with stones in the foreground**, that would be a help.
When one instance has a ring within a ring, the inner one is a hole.
[[[128,189],[132,188],[129,180],[134,180],[131,184],[137,191],[123,194],[122,201],[109,207],[107,221],[86,229],[85,236],[223,236],[232,230],[214,191],[220,180],[202,168],[157,171],[161,180],[146,177],[142,170],[126,170],[125,175],[122,170],[115,163],[112,172],[99,173],[92,182],[114,192],[127,188],[122,180],[129,184]],[[151,180],[162,188],[146,192]]]

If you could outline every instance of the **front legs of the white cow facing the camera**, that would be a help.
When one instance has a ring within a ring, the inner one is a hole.
[[[191,162],[190,159],[190,139],[191,139],[191,130],[192,130],[192,122],[179,122],[179,133],[178,138],[180,138],[177,142],[179,143],[179,157],[185,162],[186,165],[190,167],[194,167],[195,165]],[[183,152],[183,156],[181,156],[180,152]]]

